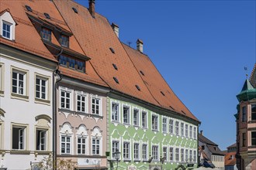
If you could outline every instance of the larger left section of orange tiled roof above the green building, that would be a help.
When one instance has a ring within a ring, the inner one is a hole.
[[[93,18],[88,8],[73,1],[57,0],[54,3],[78,39],[85,55],[91,58],[92,66],[112,90],[160,106],[137,73],[105,17],[95,13]],[[78,13],[73,11],[73,7],[77,8]],[[114,53],[109,48],[112,48]],[[112,66],[113,63],[118,70]],[[116,83],[114,77],[119,83]]]

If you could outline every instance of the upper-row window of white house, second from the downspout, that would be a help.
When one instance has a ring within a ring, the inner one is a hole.
[[[26,73],[12,71],[12,93],[26,94]]]

